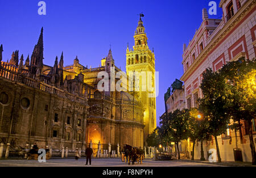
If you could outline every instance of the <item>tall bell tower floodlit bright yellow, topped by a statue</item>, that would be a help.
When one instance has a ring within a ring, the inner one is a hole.
[[[150,95],[155,94],[155,54],[152,52],[147,45],[147,35],[145,33],[145,28],[143,26],[143,22],[141,17],[144,16],[140,14],[139,22],[137,29],[134,34],[135,44],[133,49],[129,49],[129,45],[127,45],[126,49],[126,73],[142,73],[145,72],[146,76],[143,77],[140,75],[139,77],[139,86],[140,90],[136,91],[136,96],[138,96],[138,100],[141,100],[144,106],[143,113],[143,123],[144,127],[144,143],[146,143],[147,135],[151,134],[153,130],[156,128],[156,98],[150,97]],[[147,73],[150,72],[152,77],[148,77]],[[151,78],[151,79],[150,79]],[[147,90],[142,90],[142,81],[143,79],[147,80]],[[150,82],[151,88],[154,90],[148,90],[148,81]],[[154,95],[155,96],[155,95]]]

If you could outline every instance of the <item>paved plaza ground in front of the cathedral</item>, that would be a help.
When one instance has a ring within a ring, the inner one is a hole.
[[[2,159],[0,160],[0,167],[85,167],[86,159],[50,159],[46,163],[39,163],[38,160],[24,160],[24,159]],[[125,167],[129,166],[121,162],[121,159],[92,159],[90,167]],[[143,164],[135,163],[129,167],[216,167],[213,164],[179,162],[179,161],[155,161],[152,159],[144,159]],[[88,166],[89,167],[89,166]]]

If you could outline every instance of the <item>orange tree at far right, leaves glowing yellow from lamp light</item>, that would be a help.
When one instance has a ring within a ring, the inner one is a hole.
[[[248,122],[252,164],[256,165],[253,141],[253,119],[256,118],[256,62],[244,60],[229,62],[222,67],[220,74],[226,83],[227,111],[234,120],[233,128],[241,130],[241,120]],[[241,134],[241,132],[240,132]]]

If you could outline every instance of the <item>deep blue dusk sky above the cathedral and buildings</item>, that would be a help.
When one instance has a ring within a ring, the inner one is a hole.
[[[64,52],[64,66],[78,56],[84,66],[98,67],[112,48],[115,65],[125,70],[126,46],[134,45],[133,35],[142,19],[148,46],[155,50],[155,67],[159,71],[157,119],[164,112],[164,93],[183,74],[183,44],[188,44],[202,22],[202,9],[209,0],[185,1],[60,1],[45,0],[46,15],[38,15],[39,0],[0,0],[0,45],[3,61],[14,50],[19,56],[32,54],[44,27],[44,64],[54,65],[55,57]],[[217,15],[222,12],[217,3]]]

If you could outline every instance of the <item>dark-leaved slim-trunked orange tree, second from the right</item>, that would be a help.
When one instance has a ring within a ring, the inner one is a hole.
[[[221,162],[217,136],[226,132],[230,121],[226,112],[228,103],[225,93],[226,84],[220,73],[213,72],[209,68],[203,73],[200,88],[203,92],[203,98],[199,100],[199,111],[204,113],[204,119],[208,124],[208,133],[213,135],[215,139],[218,162]]]

